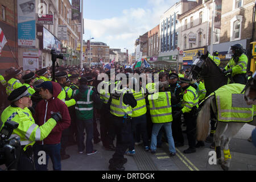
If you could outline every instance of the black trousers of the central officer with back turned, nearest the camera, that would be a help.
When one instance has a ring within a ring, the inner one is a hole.
[[[115,117],[111,114],[110,118],[113,121],[113,127],[115,133],[117,134],[117,146],[115,147],[115,152],[112,156],[112,164],[118,165],[122,163],[125,155],[125,151],[129,147],[132,133],[131,133],[131,121],[124,120],[123,117]]]

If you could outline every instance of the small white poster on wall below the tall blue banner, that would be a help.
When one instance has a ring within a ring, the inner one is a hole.
[[[38,52],[23,52],[23,69],[35,71],[38,68]]]

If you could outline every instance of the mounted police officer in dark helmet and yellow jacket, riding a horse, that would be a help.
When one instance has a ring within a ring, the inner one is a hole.
[[[245,55],[245,49],[242,44],[234,44],[229,47],[228,53],[232,55],[232,59],[223,69],[225,74],[231,73],[234,83],[246,84],[246,69],[248,58]]]

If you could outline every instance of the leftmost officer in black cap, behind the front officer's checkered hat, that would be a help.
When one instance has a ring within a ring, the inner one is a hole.
[[[22,78],[22,71],[15,69],[10,73],[10,76],[12,78],[7,82],[6,87],[6,94],[8,96],[11,94],[11,92],[13,92],[14,89],[22,86],[22,83],[19,81]]]

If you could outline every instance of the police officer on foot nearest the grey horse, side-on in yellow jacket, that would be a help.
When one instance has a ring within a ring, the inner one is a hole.
[[[187,150],[183,152],[185,154],[196,152],[196,118],[198,105],[198,95],[196,89],[190,85],[188,78],[180,78],[179,85],[182,88],[181,92],[181,106],[183,107],[180,111],[174,114],[174,118],[184,115],[184,121],[187,125],[187,138],[188,146]]]

